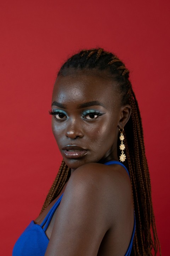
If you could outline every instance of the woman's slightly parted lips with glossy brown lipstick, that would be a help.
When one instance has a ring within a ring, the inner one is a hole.
[[[67,145],[62,148],[64,156],[67,158],[81,158],[87,154],[88,150],[77,145]]]

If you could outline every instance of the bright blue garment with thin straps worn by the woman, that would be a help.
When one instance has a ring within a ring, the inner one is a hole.
[[[124,164],[118,161],[109,161],[105,163],[105,165],[111,165],[111,164],[119,164],[126,169]],[[127,169],[126,171],[128,172]],[[129,175],[129,172],[128,172],[128,175]],[[18,238],[13,248],[12,256],[44,256],[45,255],[45,251],[49,243],[49,239],[47,238],[45,232],[50,224],[53,214],[55,213],[55,210],[57,209],[57,207],[61,202],[62,197],[63,197],[63,194],[61,195],[60,198],[58,198],[56,203],[49,210],[45,219],[40,225],[35,224],[34,221],[32,220],[32,222],[28,225],[28,227],[24,230],[24,232]],[[125,256],[130,256],[134,234],[135,234],[135,227],[136,227],[136,222],[135,222],[135,212],[134,212],[134,228],[132,231],[131,240]]]

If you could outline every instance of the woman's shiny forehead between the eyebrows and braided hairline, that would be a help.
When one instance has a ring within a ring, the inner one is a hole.
[[[115,90],[116,84],[108,78],[83,72],[59,76],[55,82],[52,102],[81,104],[100,101],[105,106],[119,105],[120,97]]]

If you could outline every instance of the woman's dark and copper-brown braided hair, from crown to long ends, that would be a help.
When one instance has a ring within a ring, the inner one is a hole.
[[[129,80],[129,70],[125,64],[113,53],[101,48],[81,50],[70,57],[61,67],[58,76],[67,76],[73,70],[106,71],[103,76],[117,82],[121,95],[121,104],[129,104],[132,108],[131,116],[124,127],[126,163],[129,170],[132,186],[133,204],[136,217],[136,230],[131,255],[154,255],[160,250],[155,217],[151,197],[151,180],[145,154],[143,128],[140,110],[134,91]],[[117,147],[120,153],[119,147]],[[70,177],[70,168],[64,160],[60,166],[57,177],[50,188],[41,212],[60,194]],[[152,232],[151,232],[152,231]],[[153,234],[153,238],[152,238]]]

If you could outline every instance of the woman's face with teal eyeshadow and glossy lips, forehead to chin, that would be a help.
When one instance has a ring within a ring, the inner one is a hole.
[[[51,109],[52,131],[70,168],[118,160],[121,106],[111,80],[82,71],[59,76],[53,89]]]

